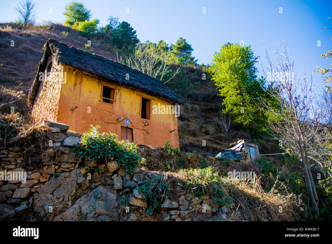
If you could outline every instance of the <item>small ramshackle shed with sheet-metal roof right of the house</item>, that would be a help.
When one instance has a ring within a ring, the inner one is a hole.
[[[253,161],[259,156],[258,146],[259,144],[251,141],[239,140],[237,143],[221,149],[215,158]]]

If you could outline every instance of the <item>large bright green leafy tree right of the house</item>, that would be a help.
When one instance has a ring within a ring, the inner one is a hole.
[[[262,130],[266,121],[264,112],[257,106],[265,96],[260,85],[260,82],[264,85],[264,79],[259,81],[256,75],[257,59],[250,45],[226,43],[214,53],[210,67],[219,95],[224,98],[222,113],[229,113],[234,122],[249,130],[251,136]]]

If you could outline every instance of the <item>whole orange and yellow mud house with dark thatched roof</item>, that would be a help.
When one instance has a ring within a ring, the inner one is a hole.
[[[37,123],[90,125],[135,144],[179,147],[181,98],[160,80],[119,62],[49,39],[29,92]]]

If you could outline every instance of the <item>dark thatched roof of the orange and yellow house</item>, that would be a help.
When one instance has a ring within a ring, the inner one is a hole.
[[[139,70],[73,46],[69,47],[65,43],[54,39],[48,39],[44,47],[44,54],[39,62],[38,72],[29,91],[30,106],[34,104],[41,83],[38,74],[44,72],[50,54],[52,54],[53,62],[56,62],[56,64],[61,63],[106,81],[139,89],[148,94],[184,104],[183,100],[175,92],[168,89],[162,81]],[[126,74],[129,74],[129,80],[125,79]]]

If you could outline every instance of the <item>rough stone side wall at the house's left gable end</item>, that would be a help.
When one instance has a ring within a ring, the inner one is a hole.
[[[54,65],[56,69],[62,71],[62,65]],[[55,69],[52,68],[49,76],[44,77],[39,86],[39,92],[35,98],[32,109],[32,118],[35,123],[41,124],[43,120],[56,121],[58,113],[58,103],[61,91],[61,79],[58,79]]]

